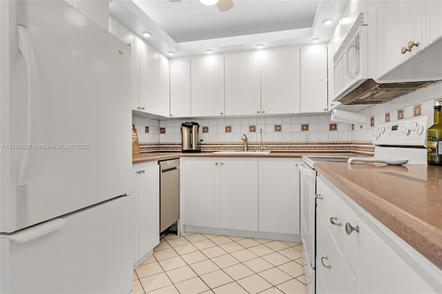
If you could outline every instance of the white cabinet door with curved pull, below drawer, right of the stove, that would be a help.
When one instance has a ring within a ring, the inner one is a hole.
[[[316,293],[356,293],[356,275],[316,209]]]

